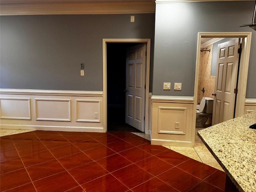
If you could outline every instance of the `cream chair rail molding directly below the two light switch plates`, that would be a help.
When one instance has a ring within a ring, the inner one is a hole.
[[[177,103],[194,103],[194,97],[186,96],[151,96],[152,102],[177,102]]]

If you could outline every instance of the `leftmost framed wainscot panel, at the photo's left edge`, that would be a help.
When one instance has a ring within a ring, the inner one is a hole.
[[[29,98],[0,98],[1,119],[31,120]]]

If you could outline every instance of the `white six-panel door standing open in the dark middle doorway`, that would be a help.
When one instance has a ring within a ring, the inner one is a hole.
[[[144,132],[146,44],[126,51],[126,117],[125,122]]]

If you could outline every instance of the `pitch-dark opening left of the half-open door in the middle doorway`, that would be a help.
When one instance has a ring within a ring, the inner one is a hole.
[[[108,131],[141,132],[126,124],[126,48],[139,43],[107,43]]]

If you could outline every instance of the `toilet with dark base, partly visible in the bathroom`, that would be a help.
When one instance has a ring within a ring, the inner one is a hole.
[[[203,97],[196,109],[196,127],[206,127],[208,118],[212,118],[213,98]]]

